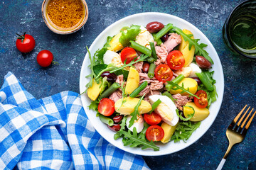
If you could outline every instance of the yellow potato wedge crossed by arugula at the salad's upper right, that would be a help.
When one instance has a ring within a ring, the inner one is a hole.
[[[190,30],[183,29],[182,31],[186,34],[193,34]],[[187,67],[189,64],[191,64],[191,62],[193,61],[193,56],[195,55],[195,46],[192,45],[191,50],[189,50],[188,46],[188,41],[185,41],[184,38],[181,36],[181,44],[178,46],[178,50],[182,52],[183,57],[185,58],[184,67]]]

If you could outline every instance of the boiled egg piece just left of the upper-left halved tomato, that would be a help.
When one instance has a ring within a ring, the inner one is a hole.
[[[122,63],[121,57],[117,52],[113,52],[110,50],[107,50],[105,54],[103,55],[103,62],[105,64],[113,63],[116,67],[121,67],[124,64]]]

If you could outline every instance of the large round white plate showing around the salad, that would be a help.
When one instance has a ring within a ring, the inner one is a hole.
[[[181,18],[176,16],[171,16],[166,13],[138,13],[132,16],[127,16],[126,18],[122,18],[121,20],[113,23],[111,26],[107,27],[105,30],[100,33],[99,36],[92,42],[90,46],[90,52],[93,55],[96,50],[101,49],[107,40],[107,36],[113,36],[119,33],[119,30],[124,26],[131,26],[132,24],[146,26],[147,23],[151,21],[159,21],[166,25],[167,23],[173,23],[174,26],[178,28],[186,28],[191,30],[195,38],[200,38],[199,42],[206,43],[208,47],[205,50],[209,53],[210,57],[213,59],[213,70],[215,71],[213,78],[216,80],[216,89],[218,92],[218,99],[210,106],[210,115],[208,118],[202,121],[201,126],[193,132],[191,137],[185,142],[169,142],[166,145],[158,145],[160,147],[159,151],[154,151],[153,149],[144,149],[141,148],[131,148],[131,147],[124,147],[122,143],[122,139],[114,140],[114,132],[107,128],[107,125],[102,123],[99,118],[95,116],[95,111],[90,111],[88,106],[90,105],[91,101],[90,98],[87,97],[87,94],[83,94],[82,98],[82,106],[85,108],[85,112],[87,117],[91,121],[92,125],[94,125],[97,132],[102,135],[108,142],[112,143],[112,145],[119,147],[119,149],[123,149],[124,151],[130,152],[132,154],[139,154],[144,156],[158,156],[164,154],[171,154],[174,152],[178,152],[181,149],[188,147],[189,145],[196,142],[206,131],[210,128],[210,125],[213,124],[216,116],[218,115],[218,111],[220,110],[220,106],[223,100],[223,92],[224,92],[224,77],[223,77],[223,68],[220,63],[220,59],[218,54],[210,43],[206,35],[204,35],[198,28],[193,26],[188,21],[185,21]],[[80,72],[80,93],[85,91],[85,84],[87,84],[89,79],[86,79],[85,76],[90,74],[90,68],[88,65],[90,64],[88,52],[85,55],[85,59],[82,62],[82,68]]]

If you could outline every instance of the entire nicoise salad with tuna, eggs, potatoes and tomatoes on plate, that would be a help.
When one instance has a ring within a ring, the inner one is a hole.
[[[102,123],[124,146],[186,142],[216,101],[213,60],[190,30],[154,21],[124,26],[90,54],[86,85]]]

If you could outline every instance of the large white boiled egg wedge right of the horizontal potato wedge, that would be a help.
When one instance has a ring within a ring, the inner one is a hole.
[[[154,110],[155,113],[159,114],[162,120],[168,125],[174,126],[178,123],[178,115],[176,114],[176,106],[173,101],[167,96],[152,95],[149,96],[149,102],[151,105],[160,99],[161,103]]]

